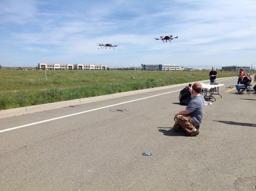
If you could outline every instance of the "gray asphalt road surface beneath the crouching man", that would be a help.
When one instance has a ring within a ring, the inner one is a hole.
[[[180,87],[0,119],[3,130],[92,110],[1,132],[0,191],[255,191],[256,94],[220,83],[197,137],[167,132]]]

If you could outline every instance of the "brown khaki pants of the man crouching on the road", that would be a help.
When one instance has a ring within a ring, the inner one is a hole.
[[[184,129],[187,133],[190,134],[195,130],[196,127],[193,125],[192,117],[189,115],[178,115],[172,128],[175,131]]]

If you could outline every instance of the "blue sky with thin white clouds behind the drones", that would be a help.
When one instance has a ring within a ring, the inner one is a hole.
[[[0,0],[0,37],[2,66],[256,67],[256,0]]]

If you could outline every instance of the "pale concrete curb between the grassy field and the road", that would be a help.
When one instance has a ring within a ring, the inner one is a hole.
[[[228,78],[232,78],[232,77],[218,78],[218,80],[228,79]],[[209,80],[203,80],[200,82],[209,82]],[[195,83],[195,82],[191,82],[190,84],[193,84],[193,83]],[[40,112],[40,111],[47,111],[47,110],[51,110],[51,109],[63,108],[63,107],[67,107],[67,106],[88,104],[88,103],[92,103],[92,102],[103,101],[103,100],[108,100],[108,99],[118,98],[118,97],[123,97],[123,96],[131,96],[131,95],[142,94],[142,93],[146,93],[146,92],[164,90],[164,89],[169,89],[169,88],[173,88],[173,87],[185,86],[188,84],[189,83],[167,85],[167,86],[154,87],[154,88],[148,88],[148,89],[142,89],[142,90],[134,90],[134,91],[129,91],[129,92],[121,92],[121,93],[109,94],[109,95],[103,95],[103,96],[87,97],[87,98],[82,98],[82,99],[74,99],[74,100],[61,101],[61,102],[55,102],[55,103],[49,103],[49,104],[41,104],[41,105],[36,105],[36,106],[27,106],[27,107],[19,107],[19,108],[14,108],[14,109],[6,109],[6,110],[0,111],[0,119],[6,118],[6,117],[21,116],[24,114],[31,114],[31,113],[36,113],[36,112]]]

